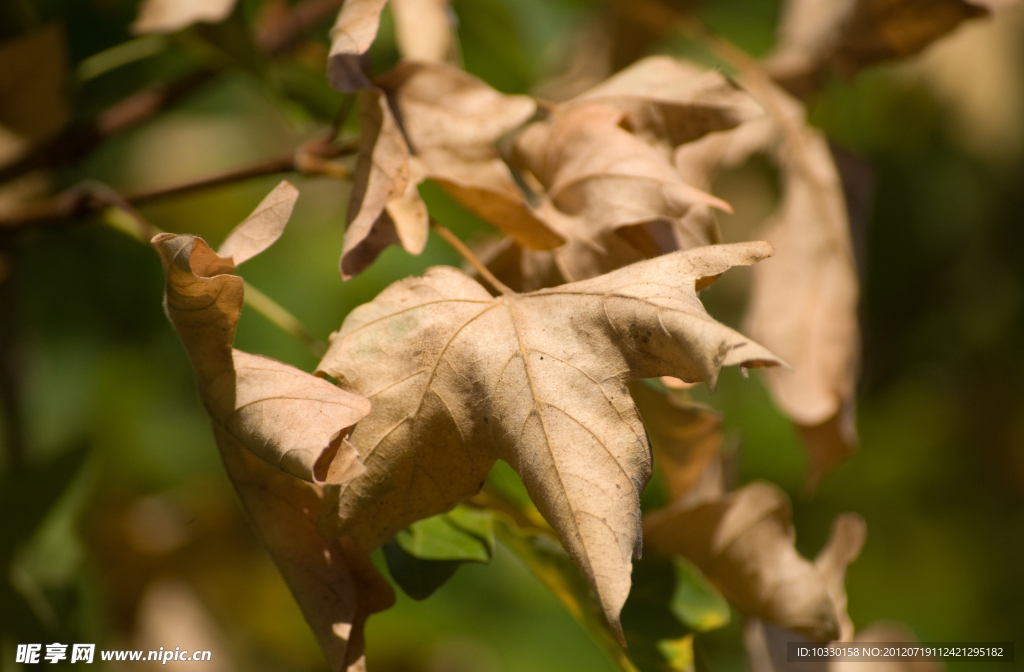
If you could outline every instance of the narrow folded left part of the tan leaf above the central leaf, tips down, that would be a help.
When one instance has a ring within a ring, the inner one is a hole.
[[[388,245],[419,254],[430,222],[416,186],[422,175],[380,89],[358,92],[359,157],[341,253],[341,277],[358,275]],[[414,173],[414,171],[416,171]]]

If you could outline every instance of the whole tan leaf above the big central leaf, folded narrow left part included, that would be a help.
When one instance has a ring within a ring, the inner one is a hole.
[[[372,86],[359,92],[362,132],[342,278],[360,272],[391,244],[423,251],[429,220],[417,186],[427,178],[524,245],[550,249],[564,242],[531,211],[495,146],[534,114],[530,98],[428,62],[402,61]]]

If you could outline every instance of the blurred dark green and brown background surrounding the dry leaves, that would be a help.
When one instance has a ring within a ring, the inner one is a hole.
[[[260,2],[243,3],[252,17]],[[159,117],[54,176],[126,192],[279,156],[323,132],[343,103],[323,78],[329,22],[276,62],[244,58],[212,30],[83,78],[82,64],[132,39],[130,0],[4,0],[0,39],[63,27],[75,116],[150,82],[196,70],[209,80]],[[506,92],[563,70],[574,35],[608,11],[585,0],[455,0],[466,69]],[[1024,11],[979,19],[924,54],[853,81],[831,80],[811,119],[850,176],[864,339],[860,448],[805,495],[803,449],[752,376],[723,374],[708,401],[738,445],[738,481],[768,478],[794,499],[798,547],[815,554],[831,519],[864,515],[867,544],[848,575],[858,627],[907,624],[927,641],[1024,642]],[[770,50],[779,3],[707,0],[697,14],[739,46]],[[375,70],[396,58],[384,22]],[[684,53],[681,38],[647,51]],[[227,54],[225,56],[225,54]],[[231,57],[227,57],[231,56]],[[78,71],[75,71],[78,68]],[[343,134],[356,132],[354,115]],[[218,244],[278,181],[259,178],[142,208],[156,225]],[[460,265],[431,238],[419,257],[391,248],[342,283],[337,263],[349,184],[289,177],[301,197],[284,237],[241,274],[319,338],[387,283]],[[752,162],[716,185],[748,237],[777,195]],[[487,227],[436,188],[431,213],[464,240]],[[2,205],[0,192],[0,205]],[[242,516],[162,307],[156,255],[98,218],[0,234],[3,355],[18,405],[2,417],[0,670],[22,642],[145,642],[214,652],[208,670],[324,670],[312,636]],[[739,326],[742,278],[703,294]],[[310,370],[315,359],[243,312],[237,346]],[[22,451],[26,469],[15,473]],[[698,669],[741,670],[738,616],[698,641]],[[604,654],[508,551],[466,565],[424,602],[399,594],[371,619],[376,672],[611,670]],[[101,667],[101,664],[97,663]],[[950,670],[984,668],[948,665]]]

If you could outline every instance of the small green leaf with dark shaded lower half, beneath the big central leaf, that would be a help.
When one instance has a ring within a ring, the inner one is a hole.
[[[414,522],[384,544],[391,578],[413,599],[426,599],[464,562],[490,562],[495,554],[489,511],[457,506]]]

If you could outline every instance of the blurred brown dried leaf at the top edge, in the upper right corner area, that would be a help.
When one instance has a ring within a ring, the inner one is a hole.
[[[766,68],[798,95],[825,72],[853,77],[881,60],[918,53],[962,22],[987,12],[976,0],[790,0]],[[1001,3],[995,3],[1001,4]]]

